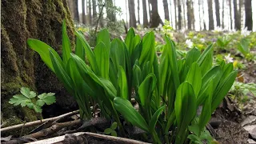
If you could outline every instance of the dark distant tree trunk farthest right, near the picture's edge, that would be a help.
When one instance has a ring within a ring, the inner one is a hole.
[[[251,9],[251,0],[245,1],[245,10],[246,10],[246,27],[247,30],[253,30],[253,17]]]

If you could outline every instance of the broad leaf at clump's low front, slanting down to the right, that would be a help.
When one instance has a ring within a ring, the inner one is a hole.
[[[118,112],[121,113],[122,116],[126,118],[126,120],[132,125],[138,126],[146,132],[150,132],[145,119],[141,114],[138,113],[137,110],[134,109],[134,106],[131,105],[130,101],[124,98],[116,97],[114,98],[114,108],[118,110]]]

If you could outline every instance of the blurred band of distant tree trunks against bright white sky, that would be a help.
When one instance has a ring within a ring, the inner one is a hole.
[[[68,0],[74,22],[94,26],[158,27],[174,30],[255,31],[255,0]],[[121,24],[120,24],[121,23]],[[114,26],[112,26],[114,25]]]

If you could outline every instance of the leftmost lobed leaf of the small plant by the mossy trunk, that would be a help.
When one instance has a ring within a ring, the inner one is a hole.
[[[16,94],[13,98],[10,98],[9,103],[14,106],[21,105],[22,107],[26,106],[27,103],[30,103],[31,99],[24,97],[22,94]]]

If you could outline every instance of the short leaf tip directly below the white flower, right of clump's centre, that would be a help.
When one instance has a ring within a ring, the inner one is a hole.
[[[196,62],[200,56],[200,51],[197,48],[191,49],[186,54],[186,66],[191,66],[193,62]]]

